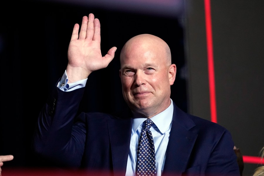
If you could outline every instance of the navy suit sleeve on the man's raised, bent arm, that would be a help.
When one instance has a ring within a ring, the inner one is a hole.
[[[80,166],[86,130],[85,122],[75,122],[75,117],[83,93],[84,88],[63,92],[54,87],[38,116],[32,143],[35,153],[62,166]]]

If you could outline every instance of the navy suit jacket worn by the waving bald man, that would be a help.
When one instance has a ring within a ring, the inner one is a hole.
[[[77,115],[83,92],[84,88],[71,92],[54,88],[39,114],[33,149],[67,167],[125,175],[132,119],[105,113]],[[230,132],[173,106],[163,175],[240,175]]]

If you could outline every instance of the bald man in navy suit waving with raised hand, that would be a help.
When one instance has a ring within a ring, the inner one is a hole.
[[[100,23],[92,13],[83,17],[78,31],[75,24],[67,68],[40,112],[33,141],[37,153],[105,175],[141,175],[137,149],[141,130],[148,127],[144,134],[153,136],[148,141],[154,141],[153,175],[239,175],[229,131],[186,114],[170,99],[176,65],[171,64],[169,46],[157,36],[137,35],[121,50],[119,75],[131,115],[77,116],[87,77],[107,67],[117,49],[102,57]]]

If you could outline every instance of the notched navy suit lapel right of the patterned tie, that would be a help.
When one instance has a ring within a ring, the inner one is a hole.
[[[197,134],[189,129],[194,122],[174,104],[170,139],[167,146],[163,174],[181,174],[187,167]]]

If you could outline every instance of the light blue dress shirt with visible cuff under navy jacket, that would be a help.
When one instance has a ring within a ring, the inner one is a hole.
[[[68,83],[68,77],[66,70],[58,82],[57,87],[62,91],[72,91],[78,88],[82,88],[86,85],[87,79],[82,79],[74,83]],[[163,172],[164,162],[166,158],[166,149],[170,136],[172,115],[173,115],[173,103],[170,99],[170,106],[163,112],[151,117],[153,125],[150,131],[153,136],[154,146],[155,146],[155,157],[156,157],[156,171],[157,176],[161,176]],[[130,148],[128,154],[128,161],[126,167],[126,176],[134,176],[137,163],[137,148],[138,141],[141,135],[143,122],[146,120],[144,117],[140,117],[138,114],[134,113],[134,119],[132,124]]]

